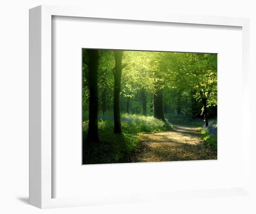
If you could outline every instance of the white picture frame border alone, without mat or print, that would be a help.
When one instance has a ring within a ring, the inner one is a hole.
[[[98,14],[81,8],[64,6],[38,6],[29,11],[29,203],[38,208],[86,206],[92,204],[125,203],[134,201],[172,200],[182,193],[188,197],[202,195],[249,194],[249,182],[241,188],[179,193],[149,194],[148,197],[130,195],[125,197],[99,198],[89,201],[88,197],[52,198],[52,16],[86,17],[99,19],[140,20],[145,22],[171,22],[216,26],[242,27],[243,33],[243,152],[249,154],[249,19],[214,16],[162,14],[145,15],[116,13]],[[245,176],[249,180],[249,156],[244,162]],[[188,196],[189,195],[189,196]],[[181,196],[182,198],[183,196]]]

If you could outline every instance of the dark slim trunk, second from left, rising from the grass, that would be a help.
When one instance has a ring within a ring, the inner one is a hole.
[[[120,91],[121,91],[121,74],[122,74],[122,57],[123,51],[114,51],[115,68],[113,69],[115,87],[114,87],[114,133],[121,134],[120,119]]]

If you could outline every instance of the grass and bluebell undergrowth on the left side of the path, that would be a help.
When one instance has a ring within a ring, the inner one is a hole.
[[[162,121],[153,116],[122,114],[122,135],[118,135],[113,133],[113,118],[106,118],[98,121],[100,143],[83,151],[84,164],[130,162],[129,158],[140,143],[136,135],[172,129],[167,120]],[[87,131],[88,120],[83,122],[83,139],[86,139]]]

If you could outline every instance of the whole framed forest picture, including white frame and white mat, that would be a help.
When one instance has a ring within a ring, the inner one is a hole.
[[[248,60],[244,18],[30,9],[29,203],[250,194]]]

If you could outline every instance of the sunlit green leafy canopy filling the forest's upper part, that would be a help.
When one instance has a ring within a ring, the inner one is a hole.
[[[112,110],[114,53],[113,50],[99,53],[99,110]],[[86,49],[83,58],[83,108],[87,110]],[[152,97],[159,89],[163,89],[165,113],[202,117],[202,98],[207,99],[208,108],[217,105],[217,54],[124,51],[122,64],[125,65],[121,74],[122,112],[142,113],[141,89],[146,91],[148,115],[154,110]]]

